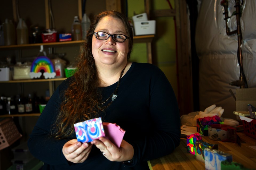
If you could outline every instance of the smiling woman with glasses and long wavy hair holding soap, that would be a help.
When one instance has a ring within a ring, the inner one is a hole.
[[[180,142],[173,89],[158,67],[131,63],[133,32],[119,12],[97,15],[78,58],[78,71],[54,92],[28,146],[43,169],[149,169],[147,160]],[[126,131],[120,148],[101,137],[77,142],[74,124],[102,117]]]

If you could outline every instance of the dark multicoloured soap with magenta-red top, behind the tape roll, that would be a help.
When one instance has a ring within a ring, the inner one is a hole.
[[[208,136],[208,126],[214,124],[223,124],[219,116],[203,117],[197,119],[197,132],[204,136]]]

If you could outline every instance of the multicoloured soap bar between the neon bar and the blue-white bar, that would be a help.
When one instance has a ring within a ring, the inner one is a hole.
[[[204,154],[204,149],[205,148],[211,148],[211,149],[216,149],[218,150],[218,144],[210,144],[207,142],[204,142],[202,140],[196,141],[195,142],[196,146],[196,155],[195,155],[195,159],[199,160],[201,162],[205,162],[205,154]]]

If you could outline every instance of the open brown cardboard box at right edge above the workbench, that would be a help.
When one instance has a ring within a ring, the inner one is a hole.
[[[251,104],[256,107],[256,88],[238,88],[235,94],[236,111],[249,111],[247,105]],[[237,120],[241,119],[236,115]]]

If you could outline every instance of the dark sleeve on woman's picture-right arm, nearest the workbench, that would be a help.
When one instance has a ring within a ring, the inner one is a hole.
[[[153,128],[145,138],[132,143],[133,165],[140,160],[147,161],[170,154],[180,143],[180,116],[173,88],[164,73],[152,81],[150,117]]]

